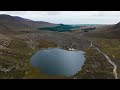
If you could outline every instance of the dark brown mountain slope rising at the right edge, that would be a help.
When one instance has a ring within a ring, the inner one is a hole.
[[[103,38],[120,38],[120,23],[101,26],[93,32],[86,33],[86,35]]]

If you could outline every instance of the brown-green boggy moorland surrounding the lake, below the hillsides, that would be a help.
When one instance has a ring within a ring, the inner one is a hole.
[[[70,34],[69,34],[70,33]],[[1,79],[114,79],[113,67],[106,58],[89,48],[90,42],[81,36],[81,32],[15,32],[0,34],[0,78]],[[71,35],[72,34],[72,35]],[[73,36],[74,35],[74,36]],[[119,39],[90,38],[93,43],[117,64],[119,76]],[[74,48],[86,52],[86,61],[82,70],[73,77],[48,76],[38,72],[30,65],[30,57],[41,48],[61,47]]]

